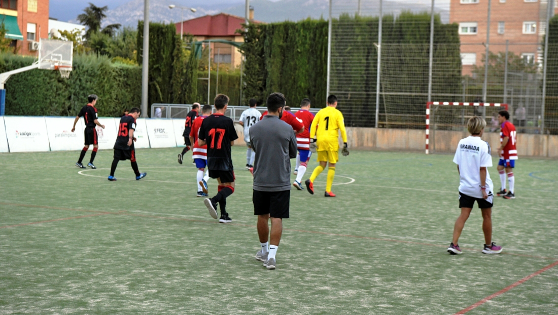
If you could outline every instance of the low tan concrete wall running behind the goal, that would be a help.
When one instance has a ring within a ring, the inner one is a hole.
[[[242,126],[235,124],[239,140],[244,145]],[[430,138],[430,149],[436,153],[454,153],[459,140],[468,137],[467,132],[437,130]],[[377,149],[384,151],[425,151],[425,130],[347,127],[349,148]],[[500,133],[485,133],[483,140],[494,152],[500,145]],[[341,138],[339,137],[341,143]],[[517,154],[530,157],[558,158],[558,135],[517,134]]]

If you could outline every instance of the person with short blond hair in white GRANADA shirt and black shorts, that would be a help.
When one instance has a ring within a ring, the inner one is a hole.
[[[448,253],[463,253],[458,245],[459,236],[469,218],[473,205],[477,205],[483,215],[484,254],[502,253],[502,247],[492,241],[492,204],[494,201],[492,180],[488,174],[488,167],[492,167],[490,146],[482,140],[484,127],[487,123],[480,117],[474,116],[467,123],[467,130],[471,134],[461,139],[455,151],[454,163],[459,172],[459,207],[461,215],[455,221],[453,241]]]

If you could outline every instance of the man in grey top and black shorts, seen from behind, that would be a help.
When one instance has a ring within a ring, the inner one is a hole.
[[[258,216],[258,236],[262,246],[256,259],[263,261],[267,269],[275,269],[275,254],[283,232],[282,219],[288,218],[291,197],[290,159],[296,158],[295,132],[280,119],[285,103],[283,94],[270,94],[267,97],[268,114],[250,127],[250,143],[256,152],[252,202],[254,215]]]

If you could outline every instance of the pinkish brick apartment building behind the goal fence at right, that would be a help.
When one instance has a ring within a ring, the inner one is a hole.
[[[542,61],[546,32],[547,0],[492,0],[489,49],[508,51],[533,64]],[[463,74],[474,65],[484,65],[487,41],[488,0],[450,0],[450,23],[459,24]]]

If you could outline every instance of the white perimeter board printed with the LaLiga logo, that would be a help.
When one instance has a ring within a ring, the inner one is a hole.
[[[50,151],[45,117],[4,116],[10,152]]]

